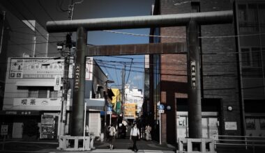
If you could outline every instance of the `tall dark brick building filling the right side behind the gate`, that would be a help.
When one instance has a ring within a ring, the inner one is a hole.
[[[153,15],[234,10],[231,24],[199,27],[202,97],[202,137],[214,135],[264,136],[264,1],[156,1]],[[151,29],[150,42],[187,42],[186,27]],[[187,54],[149,57],[149,118],[153,137],[176,143],[188,137]],[[175,120],[172,124],[172,120]]]

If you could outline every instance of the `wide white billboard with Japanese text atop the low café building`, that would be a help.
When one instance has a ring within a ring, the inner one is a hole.
[[[63,58],[10,58],[9,78],[53,79],[56,75],[63,76],[63,65]]]

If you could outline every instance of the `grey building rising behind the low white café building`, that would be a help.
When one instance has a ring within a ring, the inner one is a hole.
[[[47,57],[49,34],[35,20],[20,19],[17,14],[13,14],[3,5],[0,5],[0,26],[0,107],[2,108],[8,57]]]

